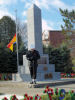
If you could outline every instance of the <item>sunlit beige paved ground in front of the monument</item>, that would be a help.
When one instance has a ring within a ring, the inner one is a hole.
[[[48,82],[42,82],[42,83],[48,83]],[[40,82],[40,84],[42,84]],[[71,89],[75,90],[75,84],[70,83],[66,85],[55,85],[52,86],[51,88],[63,88],[66,91],[69,91]],[[35,94],[43,94],[43,90],[45,87],[40,87],[40,88],[28,88],[28,83],[26,82],[0,82],[0,100],[4,97],[4,95],[10,97],[12,94],[16,94],[19,98],[23,98],[23,95],[27,93],[30,96],[33,96]],[[3,97],[2,97],[3,96]]]

